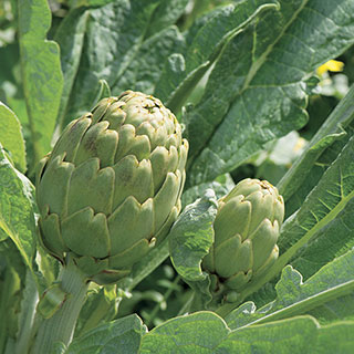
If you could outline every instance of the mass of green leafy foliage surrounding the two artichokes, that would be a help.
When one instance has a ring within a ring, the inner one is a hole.
[[[189,206],[199,223],[185,215],[175,230],[194,228],[199,253],[176,246],[170,261],[166,243],[117,288],[92,285],[65,353],[303,353],[309,343],[313,353],[350,353],[353,33],[352,0],[1,1],[0,352],[25,343],[31,290],[58,273],[35,244],[37,163],[69,122],[110,90],[131,88],[159,97],[184,124],[183,202],[204,199]],[[284,196],[281,257],[239,308],[176,317],[207,281],[200,254],[212,240],[200,230],[215,197],[205,192],[221,197],[246,177]],[[153,260],[162,264],[149,274]]]

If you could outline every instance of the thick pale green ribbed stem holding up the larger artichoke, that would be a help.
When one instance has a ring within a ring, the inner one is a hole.
[[[79,313],[85,302],[88,281],[70,256],[59,281],[67,298],[52,317],[41,323],[32,354],[52,353],[55,343],[61,342],[66,346],[72,340]]]

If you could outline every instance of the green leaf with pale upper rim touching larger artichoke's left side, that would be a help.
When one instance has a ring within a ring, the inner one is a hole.
[[[14,242],[32,270],[35,252],[34,187],[8,160],[0,146],[0,229]]]

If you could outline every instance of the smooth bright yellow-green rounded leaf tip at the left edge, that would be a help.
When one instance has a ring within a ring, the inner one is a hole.
[[[25,150],[21,124],[15,114],[0,102],[0,142],[11,154],[17,168],[25,171]]]

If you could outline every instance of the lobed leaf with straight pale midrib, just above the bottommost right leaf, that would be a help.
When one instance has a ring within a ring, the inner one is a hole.
[[[330,262],[303,283],[301,273],[288,266],[275,285],[274,301],[257,311],[252,302],[246,302],[228,314],[226,321],[231,330],[237,330],[301,314],[312,314],[321,322],[353,320],[354,306],[347,305],[354,296],[353,267],[354,250]]]

